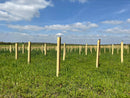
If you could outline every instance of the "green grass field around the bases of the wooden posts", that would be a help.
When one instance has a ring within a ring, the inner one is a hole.
[[[100,67],[96,68],[96,52],[86,56],[67,52],[62,60],[60,75],[56,77],[56,51],[33,50],[31,64],[27,51],[16,61],[14,52],[0,51],[0,97],[58,97],[58,98],[128,98],[130,97],[130,54],[101,53]]]

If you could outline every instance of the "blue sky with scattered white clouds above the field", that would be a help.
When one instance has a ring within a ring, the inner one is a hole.
[[[130,44],[130,0],[0,0],[0,42]]]

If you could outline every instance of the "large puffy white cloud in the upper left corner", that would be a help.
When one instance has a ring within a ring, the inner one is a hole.
[[[10,0],[0,3],[0,21],[31,20],[39,16],[39,10],[52,6],[46,0]]]

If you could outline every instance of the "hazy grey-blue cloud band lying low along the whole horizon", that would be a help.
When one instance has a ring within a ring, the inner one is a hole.
[[[101,39],[101,44],[119,44],[122,40],[124,43],[130,44],[130,36],[120,35],[64,35],[61,37],[61,42],[66,44],[97,44],[97,40]],[[0,42],[45,42],[57,43],[55,34],[29,34],[20,32],[0,33]]]

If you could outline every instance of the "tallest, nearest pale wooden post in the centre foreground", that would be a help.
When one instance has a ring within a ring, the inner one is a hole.
[[[56,69],[56,76],[59,76],[60,71],[60,51],[61,51],[61,37],[57,38],[57,69]]]

